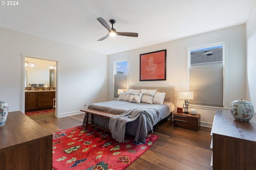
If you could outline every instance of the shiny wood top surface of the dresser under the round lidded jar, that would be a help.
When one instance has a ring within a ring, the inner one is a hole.
[[[249,122],[241,122],[230,110],[216,110],[212,133],[256,142],[256,115]]]

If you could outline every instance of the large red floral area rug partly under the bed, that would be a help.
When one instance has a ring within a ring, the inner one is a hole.
[[[53,134],[55,170],[124,170],[144,154],[158,136],[148,134],[145,144],[135,144],[134,136],[119,143],[110,132],[88,126],[74,127]]]

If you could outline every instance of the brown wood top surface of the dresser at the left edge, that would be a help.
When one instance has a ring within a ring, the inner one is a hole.
[[[0,127],[0,150],[38,138],[52,135],[38,123],[20,111],[9,112],[6,122]]]

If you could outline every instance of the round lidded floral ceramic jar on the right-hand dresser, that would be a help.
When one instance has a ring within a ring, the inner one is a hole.
[[[237,121],[248,122],[253,117],[254,109],[252,103],[241,99],[231,103],[230,112]]]

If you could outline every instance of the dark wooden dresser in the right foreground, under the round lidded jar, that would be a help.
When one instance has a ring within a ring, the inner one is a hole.
[[[217,110],[211,135],[214,170],[256,169],[256,115],[240,122],[230,110]]]

